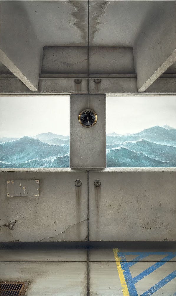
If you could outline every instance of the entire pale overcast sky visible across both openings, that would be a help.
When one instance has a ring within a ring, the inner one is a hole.
[[[0,137],[50,131],[69,135],[69,112],[69,96],[1,97]],[[176,96],[107,96],[107,133],[135,133],[165,124],[176,128]]]

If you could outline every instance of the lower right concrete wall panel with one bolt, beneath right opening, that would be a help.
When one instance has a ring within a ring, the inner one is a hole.
[[[89,239],[176,240],[175,177],[174,171],[90,171]]]

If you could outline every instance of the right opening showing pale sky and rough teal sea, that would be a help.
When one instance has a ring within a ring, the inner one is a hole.
[[[107,167],[176,167],[176,97],[107,96]]]

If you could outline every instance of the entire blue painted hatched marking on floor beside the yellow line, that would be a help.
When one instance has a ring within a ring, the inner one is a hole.
[[[138,255],[136,258],[131,260],[130,262],[126,261],[126,255]],[[129,270],[129,267],[134,265],[135,263],[141,261],[143,258],[149,256],[149,255],[165,255],[164,258],[162,258],[159,262],[153,264],[146,270],[144,270],[139,275],[132,278],[131,272]],[[166,256],[167,255],[167,256]],[[176,252],[118,252],[119,258],[121,258],[121,268],[124,273],[125,281],[129,290],[130,296],[138,296],[135,284],[143,279],[145,276],[151,274],[153,271],[155,271],[157,268],[161,267],[166,262],[170,261],[172,258],[176,256]],[[165,284],[170,282],[172,279],[176,277],[176,270],[173,271],[171,274],[166,276],[164,279],[159,281],[157,284],[155,284],[153,287],[148,289],[146,292],[144,292],[141,296],[150,296],[154,292],[158,291],[160,288],[162,288]],[[176,292],[173,296],[176,296]]]

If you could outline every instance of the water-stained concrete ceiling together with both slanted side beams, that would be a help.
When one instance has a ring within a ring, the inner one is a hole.
[[[8,68],[31,90],[38,89],[44,46],[131,47],[138,91],[165,71],[175,73],[175,0],[0,0],[0,5],[0,72]]]

